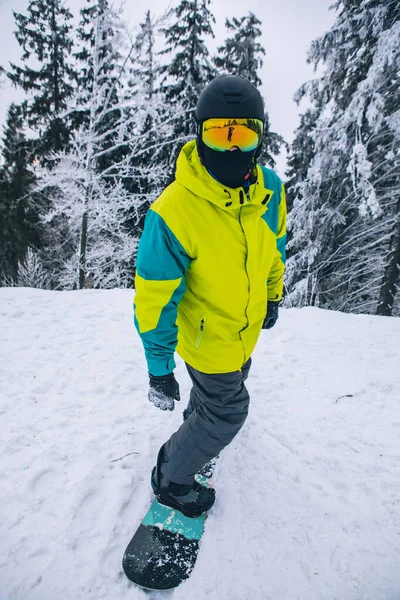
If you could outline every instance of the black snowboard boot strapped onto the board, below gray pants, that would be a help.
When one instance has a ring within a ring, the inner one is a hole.
[[[170,481],[160,469],[160,453],[157,466],[151,473],[151,487],[160,504],[176,508],[187,517],[199,517],[215,502],[215,490],[198,483],[193,477],[189,484]]]

